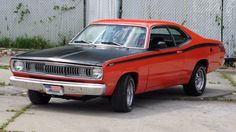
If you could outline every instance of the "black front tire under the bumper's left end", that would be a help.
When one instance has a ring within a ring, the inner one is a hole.
[[[28,97],[34,105],[48,104],[51,99],[51,96],[33,90],[28,90]]]

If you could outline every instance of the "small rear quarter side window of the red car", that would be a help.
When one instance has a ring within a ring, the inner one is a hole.
[[[172,27],[170,27],[169,30],[170,33],[173,35],[177,46],[189,40],[188,36],[182,30]]]

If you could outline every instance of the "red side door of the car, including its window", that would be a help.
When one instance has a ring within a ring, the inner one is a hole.
[[[164,87],[179,85],[182,82],[184,55],[175,43],[167,26],[153,27],[150,31],[149,47],[157,43],[165,43],[153,50],[154,57],[149,58],[149,76],[147,90],[152,91]],[[155,46],[154,46],[155,47]]]

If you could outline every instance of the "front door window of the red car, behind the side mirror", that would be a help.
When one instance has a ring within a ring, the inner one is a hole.
[[[149,48],[159,48],[158,43],[160,42],[166,44],[166,47],[160,47],[162,49],[175,46],[174,40],[166,27],[154,27],[151,30]]]

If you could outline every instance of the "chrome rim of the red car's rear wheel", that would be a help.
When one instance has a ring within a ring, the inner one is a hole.
[[[205,76],[203,69],[198,69],[195,76],[195,87],[198,91],[201,91],[203,89],[205,83]]]

